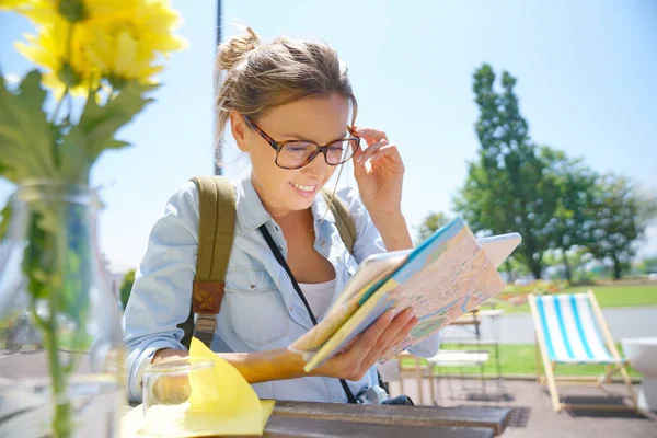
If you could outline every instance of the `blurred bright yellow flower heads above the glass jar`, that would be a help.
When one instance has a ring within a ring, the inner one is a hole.
[[[4,0],[0,0],[4,1]],[[19,12],[39,24],[38,35],[16,43],[45,68],[44,84],[61,97],[96,89],[102,79],[153,82],[171,51],[185,47],[173,32],[181,21],[166,0],[23,0]],[[66,4],[65,4],[66,3]]]

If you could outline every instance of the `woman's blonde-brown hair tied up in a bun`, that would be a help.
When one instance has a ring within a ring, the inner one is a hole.
[[[325,43],[279,37],[263,44],[246,27],[245,34],[219,45],[215,69],[220,80],[215,103],[217,142],[223,139],[232,110],[257,120],[278,105],[311,96],[348,99],[351,124],[356,119],[358,105],[347,69]]]

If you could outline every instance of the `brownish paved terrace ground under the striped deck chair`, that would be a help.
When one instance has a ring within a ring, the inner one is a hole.
[[[428,380],[423,382],[425,403],[429,404]],[[632,412],[574,411],[555,413],[550,395],[535,381],[504,381],[498,387],[495,381],[486,381],[486,393],[502,394],[508,400],[476,401],[482,394],[482,383],[475,380],[441,379],[436,382],[439,405],[459,406],[504,406],[512,410],[510,425],[503,435],[505,438],[657,438],[657,415],[644,417]],[[562,400],[568,403],[622,404],[625,387],[609,385],[611,394],[586,388],[560,389]],[[399,394],[399,382],[390,383],[393,395]],[[417,384],[415,380],[404,380],[404,391],[415,402]]]

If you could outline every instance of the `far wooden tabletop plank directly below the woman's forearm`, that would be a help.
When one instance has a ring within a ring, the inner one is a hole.
[[[493,429],[495,435],[502,435],[510,412],[506,407],[354,405],[288,401],[278,401],[274,407],[274,416],[283,417],[404,426],[485,427]]]

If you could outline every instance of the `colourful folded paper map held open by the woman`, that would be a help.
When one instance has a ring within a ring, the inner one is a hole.
[[[512,246],[518,234],[507,234]],[[463,219],[457,217],[414,250],[377,254],[361,263],[322,321],[289,348],[303,356],[306,371],[321,366],[371,325],[385,310],[413,308],[419,323],[390,348],[383,364],[416,345],[506,286]]]

